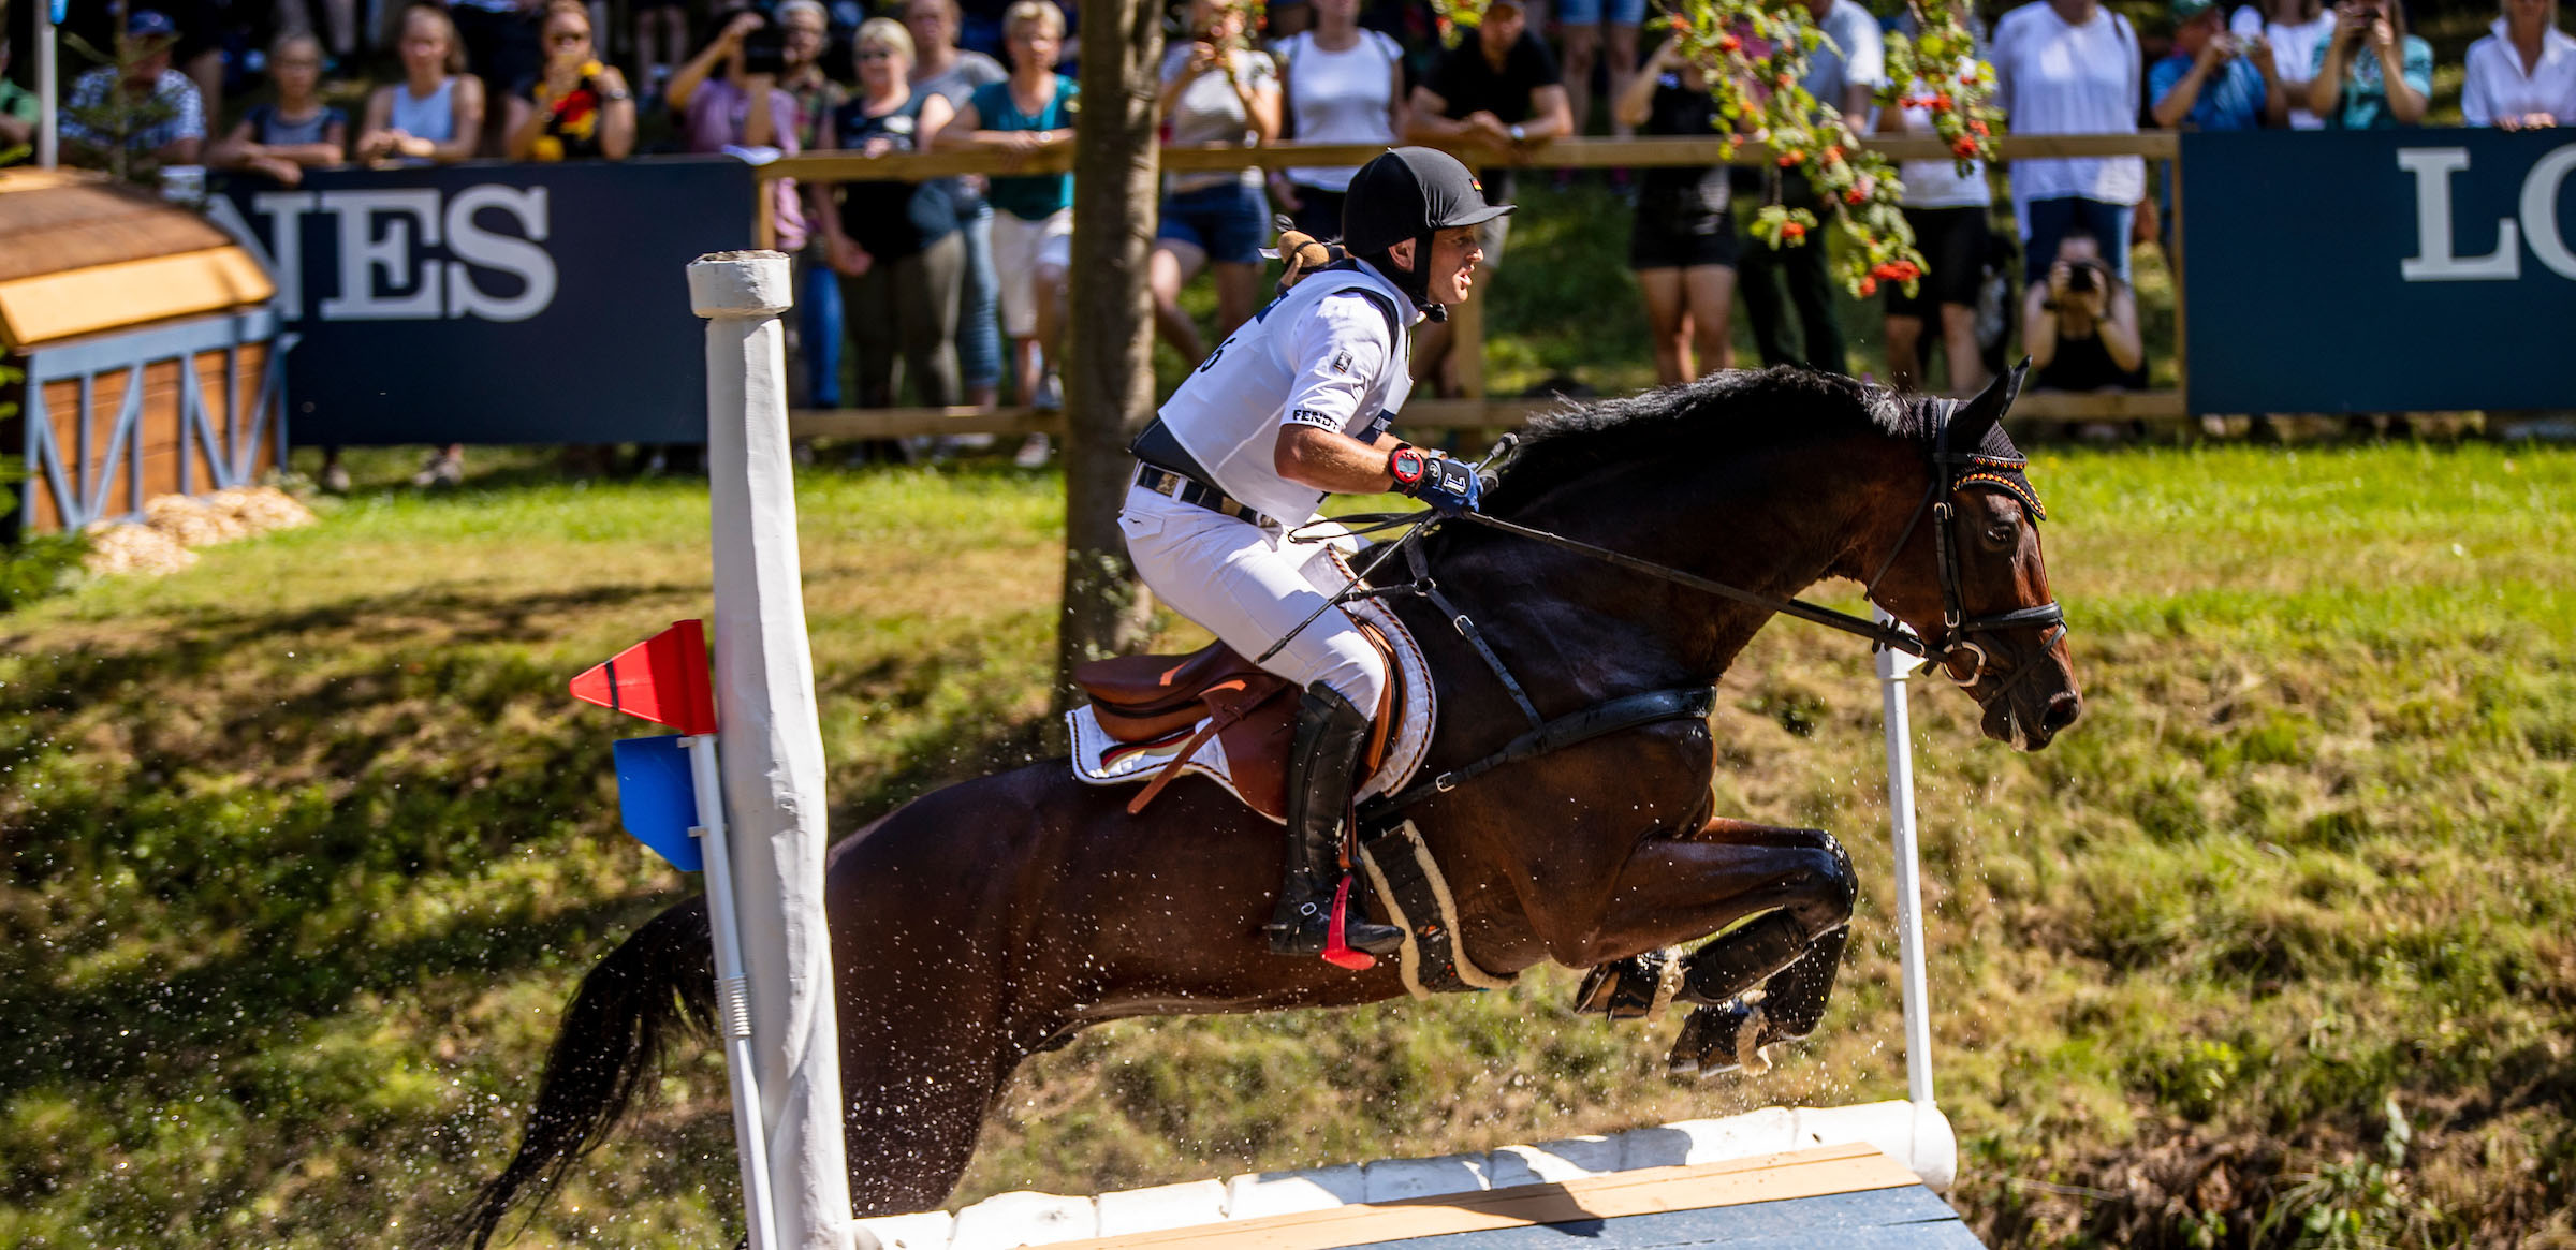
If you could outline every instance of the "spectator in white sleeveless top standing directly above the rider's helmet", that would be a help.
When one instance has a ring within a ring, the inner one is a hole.
[[[1314,31],[1280,44],[1288,137],[1306,144],[1386,144],[1404,134],[1404,49],[1360,28],[1360,0],[1314,0]],[[1270,178],[1270,196],[1298,229],[1342,237],[1350,165],[1298,168]]]

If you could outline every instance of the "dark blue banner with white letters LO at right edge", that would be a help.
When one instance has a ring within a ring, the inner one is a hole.
[[[2576,137],[2182,137],[2192,412],[2576,405]]]

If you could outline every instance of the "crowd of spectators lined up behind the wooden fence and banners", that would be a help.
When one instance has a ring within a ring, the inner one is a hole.
[[[209,165],[296,186],[304,170],[345,162],[1033,155],[1069,144],[1082,106],[1069,77],[1072,0],[144,3],[124,5],[121,28],[85,31],[116,62],[80,72],[64,93],[70,162]],[[1878,106],[1893,23],[1857,0],[1788,3],[1826,36],[1806,77],[1819,106],[1855,131],[1932,131],[1922,106]],[[1935,3],[1958,5],[1976,31],[1973,57],[1994,64],[1994,103],[2022,137],[2416,126],[2434,98],[2434,52],[2409,28],[2403,0],[2233,10],[2169,0],[2148,31],[2102,0],[2025,0],[1984,15],[1968,0]],[[108,5],[75,8],[98,10],[93,26],[111,21]],[[77,21],[72,34],[82,34]],[[1708,82],[1674,44],[1643,39],[1643,0],[1492,0],[1455,44],[1443,44],[1427,0],[1273,0],[1267,10],[1177,0],[1167,31],[1167,142],[1525,152],[1481,170],[1494,198],[1512,196],[1515,178],[1571,178],[1533,152],[1548,139],[1690,137],[1718,121]],[[0,72],[8,57],[0,31]],[[2460,70],[2470,126],[2576,119],[2576,39],[2558,28],[2558,0],[2501,0]],[[361,90],[366,80],[376,85]],[[1901,101],[1929,95],[1919,82],[1901,88]],[[28,90],[0,77],[0,155],[23,155],[33,119]],[[2017,322],[2040,387],[2143,387],[2130,245],[2164,237],[2172,219],[2172,178],[2154,173],[2141,157],[2014,160],[2007,178],[1904,162],[1904,214],[1927,271],[1914,294],[1888,284],[1880,296],[1893,381],[1973,389],[2007,356]],[[1198,358],[1206,330],[1224,338],[1252,317],[1273,214],[1337,235],[1350,175],[1170,173],[1146,276],[1162,340]],[[1736,299],[1762,363],[1850,369],[1824,247],[1739,237],[1744,196],[1816,209],[1795,173],[1710,165],[1607,178],[1633,204],[1628,260],[1659,379],[1736,361]],[[770,186],[778,245],[799,258],[809,405],[981,407],[1005,384],[1018,402],[1059,402],[1069,175]],[[2009,229],[1994,229],[1999,186]],[[1476,299],[1504,268],[1504,222],[1481,227]],[[1213,284],[1213,327],[1182,307],[1200,276]],[[1443,384],[1453,369],[1448,327],[1427,325],[1417,379]],[[1038,461],[1046,446],[1020,454]],[[451,482],[459,466],[461,448],[440,448],[420,479]]]

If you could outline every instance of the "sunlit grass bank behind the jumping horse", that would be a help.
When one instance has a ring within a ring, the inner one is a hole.
[[[616,832],[639,729],[562,686],[706,611],[703,487],[479,464],[0,616],[0,1245],[422,1245],[572,982],[696,887]],[[1999,1245],[2576,1245],[2576,456],[2032,477],[2084,722],[2014,755],[1917,696],[1955,1201]],[[1046,750],[1059,508],[806,477],[835,827]],[[1777,624],[1723,696],[1721,812],[1839,830],[1868,881],[1775,1075],[1672,1082],[1669,1023],[1571,1018],[1553,969],[1126,1023],[1025,1070],[958,1198],[1901,1095],[1868,657]],[[518,1245],[729,1237],[716,1054],[657,1093]]]

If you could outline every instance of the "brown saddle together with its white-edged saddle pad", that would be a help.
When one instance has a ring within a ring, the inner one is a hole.
[[[1386,693],[1370,709],[1360,796],[1404,784],[1430,747],[1432,693],[1422,649],[1376,603],[1352,603],[1360,634],[1386,660]],[[1121,655],[1074,668],[1090,704],[1066,714],[1074,776],[1092,786],[1146,786],[1144,812],[1172,778],[1203,773],[1255,812],[1288,820],[1288,753],[1298,693],[1234,647],[1190,655]]]

